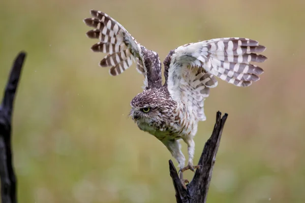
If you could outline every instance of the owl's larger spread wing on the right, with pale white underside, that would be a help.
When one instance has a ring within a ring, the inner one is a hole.
[[[180,46],[164,60],[167,86],[177,103],[184,103],[198,120],[205,120],[203,101],[209,88],[216,87],[215,76],[236,86],[249,86],[263,70],[251,62],[266,57],[256,53],[266,48],[245,38],[221,38]]]

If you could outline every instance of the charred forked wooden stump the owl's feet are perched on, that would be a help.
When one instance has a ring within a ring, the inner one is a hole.
[[[216,154],[220,145],[221,134],[226,122],[228,114],[221,118],[221,112],[217,112],[216,123],[211,137],[204,145],[198,165],[201,165],[195,172],[193,180],[185,189],[179,179],[176,168],[171,160],[169,160],[169,172],[173,180],[176,191],[176,200],[178,203],[205,203],[207,192],[212,177],[213,166],[216,160]]]

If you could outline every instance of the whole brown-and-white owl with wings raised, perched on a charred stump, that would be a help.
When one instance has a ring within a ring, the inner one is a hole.
[[[206,119],[203,101],[210,88],[218,84],[215,76],[242,87],[258,81],[263,70],[251,62],[266,59],[256,54],[265,47],[246,38],[220,38],[180,46],[170,51],[163,62],[165,83],[162,85],[161,61],[155,51],[140,45],[107,14],[92,10],[91,15],[93,18],[84,22],[95,29],[86,35],[100,40],[91,49],[107,53],[100,65],[110,66],[110,75],[117,76],[136,61],[138,72],[145,78],[144,90],[132,99],[130,116],[141,130],[167,147],[179,164],[182,179],[183,171],[196,168],[193,138],[198,121]],[[186,167],[180,139],[188,145]]]

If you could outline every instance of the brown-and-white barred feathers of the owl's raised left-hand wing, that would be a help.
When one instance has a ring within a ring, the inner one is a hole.
[[[107,53],[101,60],[100,66],[110,66],[110,75],[117,76],[128,69],[136,60],[137,71],[143,74],[145,81],[147,81],[141,58],[142,46],[121,24],[109,15],[95,10],[91,10],[90,13],[93,18],[84,19],[84,23],[95,29],[89,30],[86,35],[88,38],[100,40],[91,49],[94,52]]]

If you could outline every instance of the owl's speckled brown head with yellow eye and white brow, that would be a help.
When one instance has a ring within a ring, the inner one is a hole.
[[[176,103],[162,88],[152,88],[137,94],[130,106],[130,116],[138,125],[154,125],[170,119]]]

